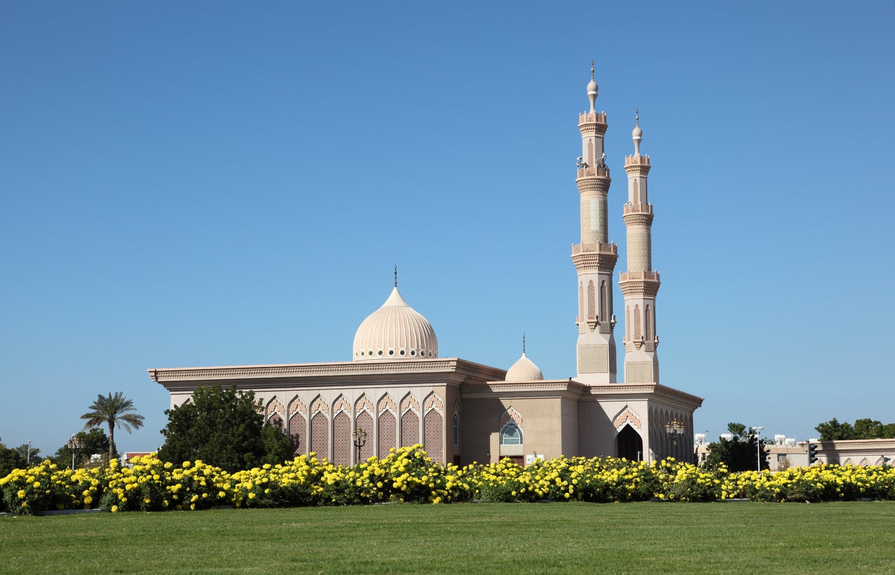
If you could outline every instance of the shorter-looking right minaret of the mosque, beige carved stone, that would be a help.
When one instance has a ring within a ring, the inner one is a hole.
[[[625,295],[625,383],[658,384],[659,358],[656,348],[656,293],[659,272],[652,271],[652,204],[646,191],[650,156],[640,155],[644,132],[640,112],[635,115],[634,156],[625,157],[627,172],[627,271],[618,279]]]

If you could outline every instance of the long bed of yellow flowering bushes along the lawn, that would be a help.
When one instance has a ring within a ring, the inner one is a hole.
[[[292,507],[387,502],[840,501],[895,499],[895,468],[818,465],[774,472],[729,473],[668,459],[560,457],[521,468],[509,460],[465,468],[430,460],[422,445],[371,457],[354,467],[312,453],[282,465],[234,474],[184,461],[136,458],[132,467],[59,469],[44,463],[0,479],[4,510],[194,511],[216,505]]]

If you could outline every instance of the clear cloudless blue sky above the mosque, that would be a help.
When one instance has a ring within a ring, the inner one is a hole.
[[[895,421],[893,30],[891,0],[5,2],[0,437],[55,452],[121,391],[120,450],[154,449],[146,368],[350,359],[394,264],[442,357],[525,333],[575,375],[591,59],[617,273],[640,108],[696,430]]]

